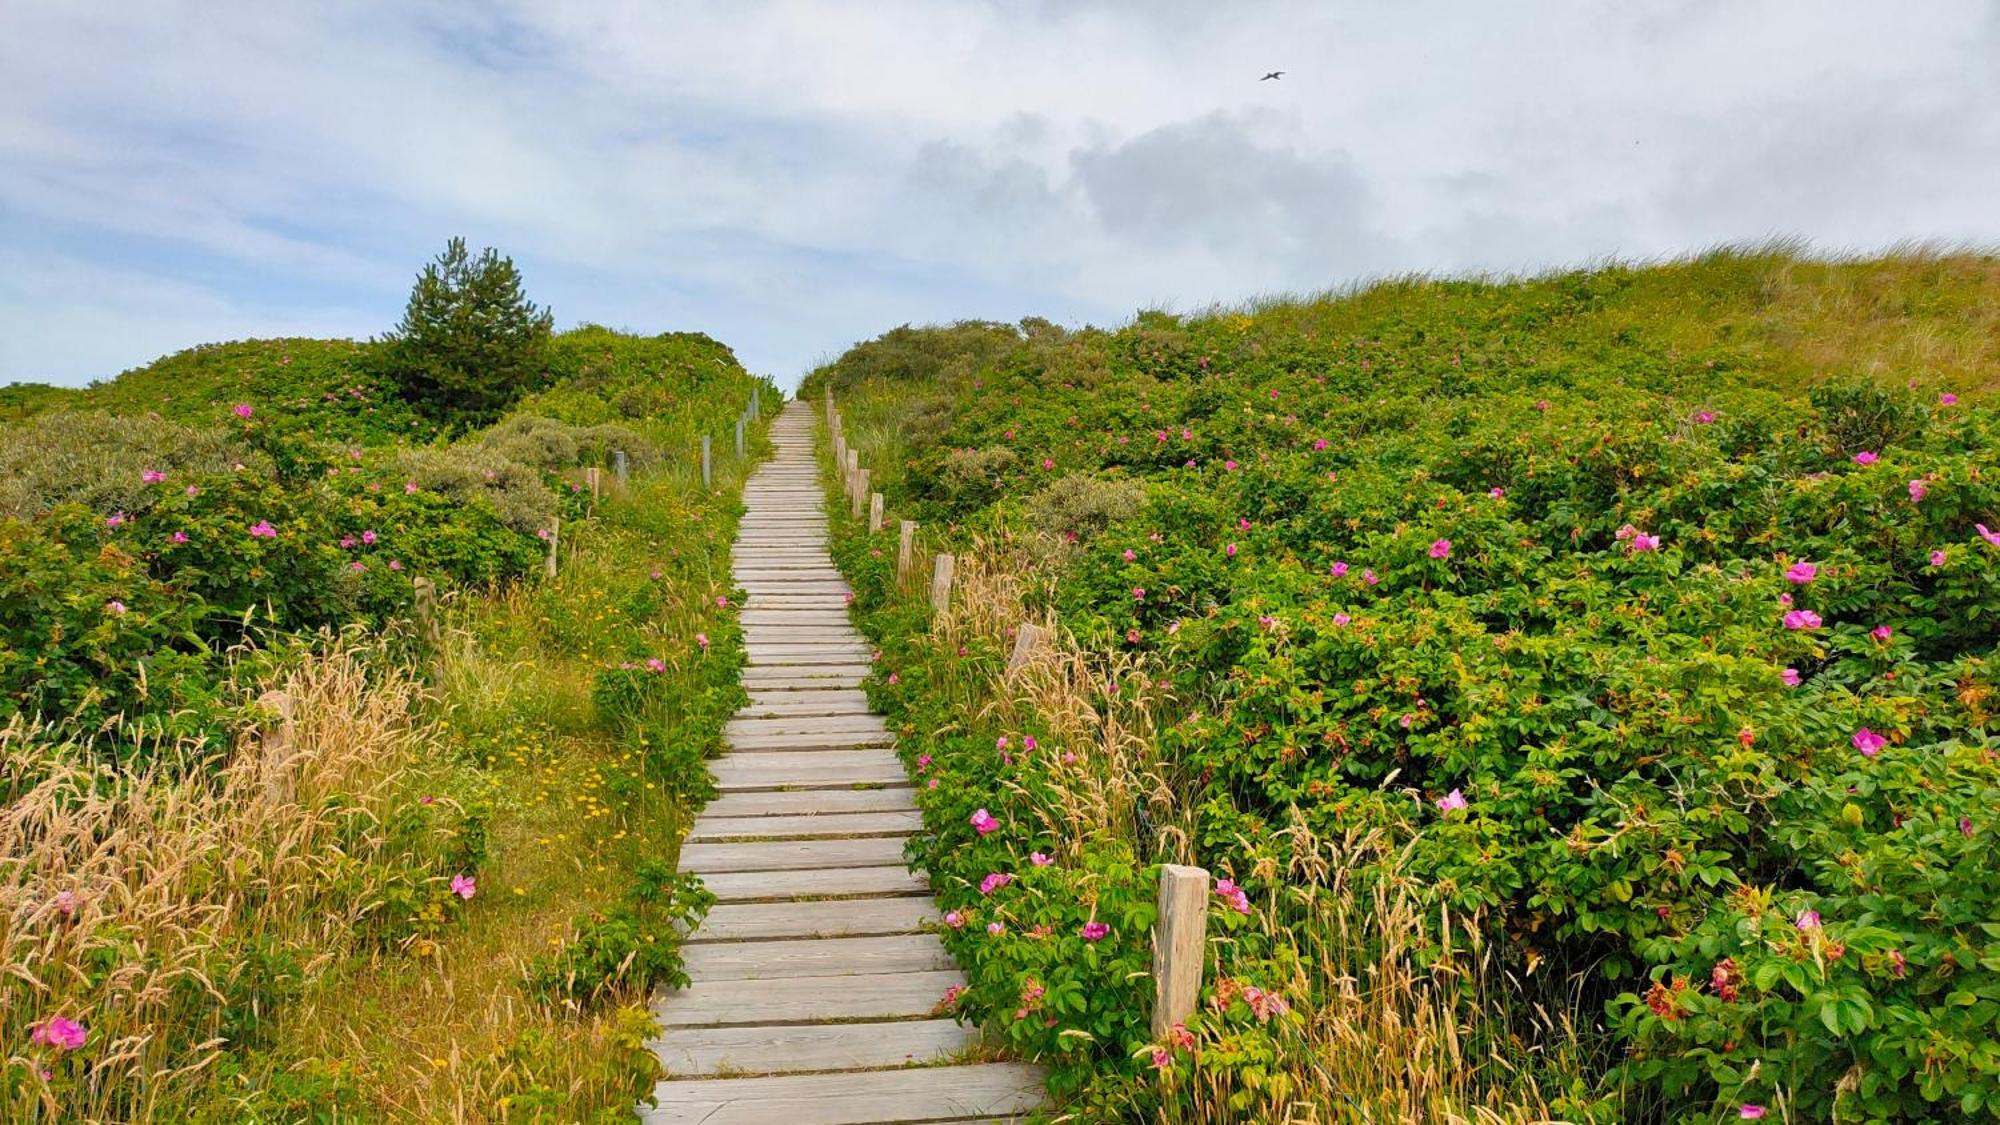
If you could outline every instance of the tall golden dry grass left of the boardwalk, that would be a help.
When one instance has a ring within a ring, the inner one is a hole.
[[[180,1119],[224,1051],[354,943],[384,831],[432,741],[408,673],[352,637],[282,673],[290,721],[194,771],[122,775],[90,747],[0,729],[0,1117]],[[174,755],[154,755],[170,759]],[[30,1041],[48,1019],[82,1049]]]

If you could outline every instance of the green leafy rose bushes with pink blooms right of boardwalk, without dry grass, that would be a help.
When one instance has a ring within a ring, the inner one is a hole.
[[[898,428],[912,384],[948,394],[934,440],[862,448],[890,504],[960,546],[1046,526],[1050,474],[1144,480],[1144,508],[1026,585],[1030,617],[1154,663],[1174,701],[1154,797],[1064,863],[1118,919],[1106,941],[1160,857],[1284,893],[1328,879],[1302,833],[1380,835],[1432,919],[1418,963],[1446,957],[1442,919],[1480,919],[1500,969],[1548,981],[1516,1017],[1568,991],[1618,1037],[1604,1081],[1668,1119],[1980,1115],[2000,1097],[2000,885],[1972,859],[1996,831],[2000,416],[1974,404],[1984,372],[1912,356],[1958,332],[1956,302],[1922,294],[1994,276],[1724,252],[1392,282],[998,350],[904,330],[894,354],[928,374],[856,350],[802,392],[844,386],[858,442]],[[1790,330],[1816,298],[1848,352]],[[940,731],[910,743],[952,793],[926,805],[946,887],[1014,871],[956,901],[1020,903],[1006,933],[1060,939],[1090,895],[1022,871],[1072,847],[1036,835],[1068,791],[1020,765],[1024,731],[1000,731],[1008,765],[954,727],[964,673],[862,544],[842,565],[898,677],[874,691]],[[1012,939],[954,949],[964,1011],[1016,1035],[1048,967]],[[1018,1035],[1102,1079],[1146,1047],[1096,1023],[1090,997],[1120,987],[1088,971],[1080,1007]]]

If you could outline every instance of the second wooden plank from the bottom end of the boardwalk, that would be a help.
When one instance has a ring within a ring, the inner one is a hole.
[[[910,1067],[972,1049],[980,1033],[950,1019],[806,1027],[682,1027],[654,1041],[668,1077]]]

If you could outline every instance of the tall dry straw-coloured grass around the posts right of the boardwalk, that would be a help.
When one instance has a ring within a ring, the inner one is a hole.
[[[1032,725],[1050,745],[1076,749],[1076,761],[1050,767],[1046,799],[1030,803],[1060,847],[1122,839],[1142,861],[1248,875],[1244,857],[1194,845],[1190,779],[1160,749],[1184,705],[1162,669],[1082,651],[1050,613],[1028,609],[1048,605],[1060,558],[1060,548],[1006,538],[956,556],[952,605],[932,621],[942,651],[974,641],[1008,649],[1020,625],[1050,641],[1010,673],[962,673],[984,683],[946,691],[980,701],[1006,729]],[[1274,1059],[1256,1089],[1240,1069],[1196,1067],[1158,1121],[1558,1121],[1566,1079],[1590,1069],[1586,1037],[1562,1015],[1522,1011],[1524,983],[1484,941],[1482,919],[1432,913],[1404,875],[1408,845],[1382,833],[1318,839],[1294,817],[1284,835],[1284,869],[1264,861],[1256,871],[1282,891],[1256,905],[1254,937],[1210,937],[1210,997],[1230,987],[1238,947],[1254,943],[1260,983],[1300,1019],[1270,1025]],[[1290,965],[1290,979],[1272,981],[1272,963]]]

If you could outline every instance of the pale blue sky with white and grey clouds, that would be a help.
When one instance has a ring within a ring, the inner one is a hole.
[[[1996,60],[1992,0],[0,0],[0,382],[366,338],[454,234],[786,386],[906,322],[1992,246]]]

